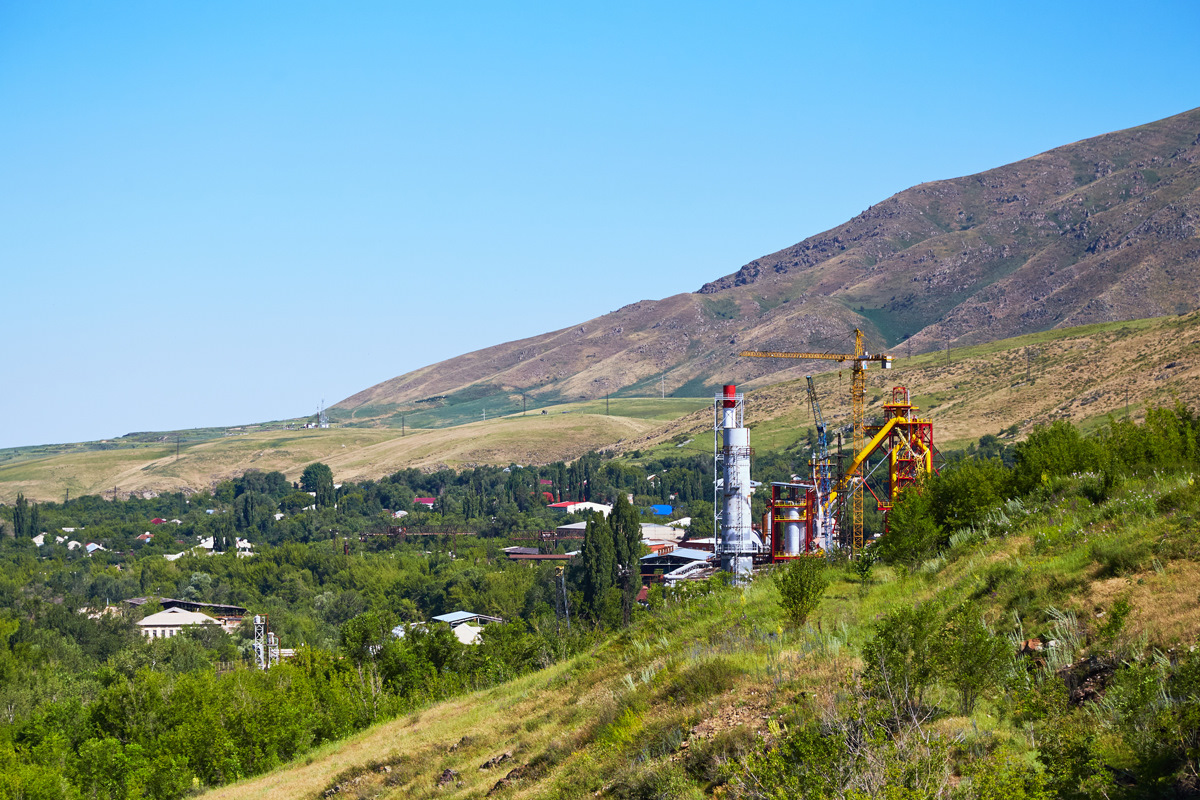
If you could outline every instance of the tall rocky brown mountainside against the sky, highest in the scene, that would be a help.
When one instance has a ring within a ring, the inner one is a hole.
[[[335,408],[370,425],[468,387],[572,401],[650,393],[664,375],[668,392],[704,395],[820,366],[738,359],[743,348],[841,351],[854,326],[876,349],[911,339],[898,353],[920,353],[1182,313],[1200,306],[1198,157],[1194,109],[922,184],[697,293],[450,359]]]

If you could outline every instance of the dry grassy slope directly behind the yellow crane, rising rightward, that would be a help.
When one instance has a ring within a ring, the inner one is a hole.
[[[866,374],[868,419],[882,415],[893,386],[905,385],[918,414],[934,420],[942,449],[1058,419],[1088,429],[1110,414],[1123,416],[1127,403],[1135,420],[1147,405],[1176,399],[1200,407],[1200,313],[1030,333],[949,354],[910,357],[901,349],[893,369]],[[816,385],[830,429],[848,425],[850,371],[817,374]],[[792,446],[812,425],[804,381],[752,391],[745,419],[756,450]],[[712,425],[710,411],[696,411],[623,450],[668,452],[688,441],[683,446],[712,452]]]

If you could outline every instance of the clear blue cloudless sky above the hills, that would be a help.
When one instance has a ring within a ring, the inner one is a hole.
[[[1200,4],[0,2],[0,446],[316,411],[1200,106]]]

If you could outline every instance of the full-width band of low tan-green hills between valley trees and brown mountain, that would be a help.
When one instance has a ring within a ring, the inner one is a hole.
[[[752,361],[743,359],[743,361]],[[848,425],[850,372],[816,375],[826,421]],[[892,386],[906,385],[934,420],[940,447],[961,447],[986,433],[1020,431],[1056,419],[1085,429],[1110,414],[1140,419],[1147,405],[1176,399],[1200,407],[1200,313],[1057,329],[953,348],[949,356],[896,351],[895,368],[868,372],[868,416],[882,413]],[[752,384],[751,384],[752,386]],[[745,386],[743,386],[745,389]],[[0,501],[86,493],[209,488],[246,469],[281,470],[296,480],[323,461],[338,481],[373,479],[403,467],[539,464],[588,450],[638,453],[712,452],[708,398],[612,398],[562,404],[452,427],[338,427],[248,431],[220,438],[142,435],[112,450],[38,452],[0,462]],[[803,380],[752,390],[746,403],[760,452],[797,446],[812,415]],[[848,444],[848,439],[847,439]],[[25,450],[25,449],[23,449]],[[10,451],[11,452],[11,451]]]

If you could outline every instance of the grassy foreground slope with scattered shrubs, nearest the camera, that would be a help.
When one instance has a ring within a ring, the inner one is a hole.
[[[882,796],[886,784],[901,780],[924,793],[888,796],[949,796],[955,786],[966,792],[961,796],[979,796],[971,781],[1001,769],[1001,754],[1009,765],[1003,769],[1025,780],[1060,780],[1030,765],[1075,732],[1070,752],[1096,758],[1091,769],[1100,777],[1111,770],[1126,789],[1146,790],[1141,756],[1130,745],[1135,727],[1122,727],[1112,709],[1133,714],[1140,700],[1127,692],[1136,686],[1150,685],[1151,699],[1154,687],[1166,691],[1166,661],[1147,654],[1181,658],[1200,636],[1198,512],[1200,487],[1188,475],[1127,480],[1096,504],[1087,500],[1086,477],[1057,480],[1009,501],[912,571],[876,567],[864,581],[834,567],[822,603],[800,628],[787,625],[766,578],[745,590],[668,602],[569,662],[422,709],[204,796],[761,796],[782,790],[762,772],[764,753],[791,746],[814,721],[828,738],[856,720],[865,727],[848,728],[862,733],[853,756],[817,750],[794,763],[830,774],[848,766],[852,788],[866,796]],[[926,696],[923,718],[887,723],[877,716],[887,716],[886,699],[863,676],[863,648],[877,620],[914,603],[949,609],[967,601],[978,603],[997,636],[1040,636],[1057,645],[1036,660],[1014,658],[1002,686],[989,687],[970,715],[942,680]],[[1127,615],[1106,624],[1114,613]],[[1068,700],[1079,664],[1096,663],[1109,664],[1099,684],[1100,694],[1110,687],[1109,704]],[[1062,670],[1067,664],[1076,672]],[[1079,739],[1088,726],[1099,726],[1102,738]],[[486,766],[493,759],[503,760]],[[1068,766],[1064,758],[1055,769]]]

